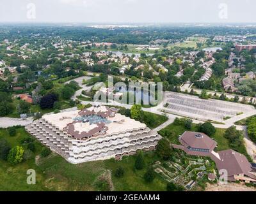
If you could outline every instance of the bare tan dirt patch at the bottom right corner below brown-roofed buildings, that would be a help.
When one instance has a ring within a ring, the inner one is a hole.
[[[207,184],[205,191],[256,191],[256,188],[237,183],[228,183],[227,185]]]

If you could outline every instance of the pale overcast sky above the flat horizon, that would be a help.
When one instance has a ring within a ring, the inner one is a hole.
[[[256,22],[255,0],[0,0],[0,22]]]

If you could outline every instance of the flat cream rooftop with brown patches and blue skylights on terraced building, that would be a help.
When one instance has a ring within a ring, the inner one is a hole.
[[[121,131],[146,128],[145,124],[116,113],[115,108],[92,106],[85,110],[74,110],[44,115],[42,119],[67,131],[73,138],[90,138],[97,135],[112,135]]]

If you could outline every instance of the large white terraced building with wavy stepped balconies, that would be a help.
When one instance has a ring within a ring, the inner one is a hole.
[[[70,163],[120,159],[136,150],[152,150],[161,139],[145,124],[117,113],[116,108],[92,106],[46,114],[26,130]]]

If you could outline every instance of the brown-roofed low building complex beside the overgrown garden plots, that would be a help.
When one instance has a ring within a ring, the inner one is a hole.
[[[214,152],[217,142],[204,133],[185,132],[179,137],[179,142],[181,145],[172,144],[172,147],[189,155],[211,157],[218,171],[227,170],[228,181],[256,183],[255,164],[249,163],[243,154],[232,149]]]

